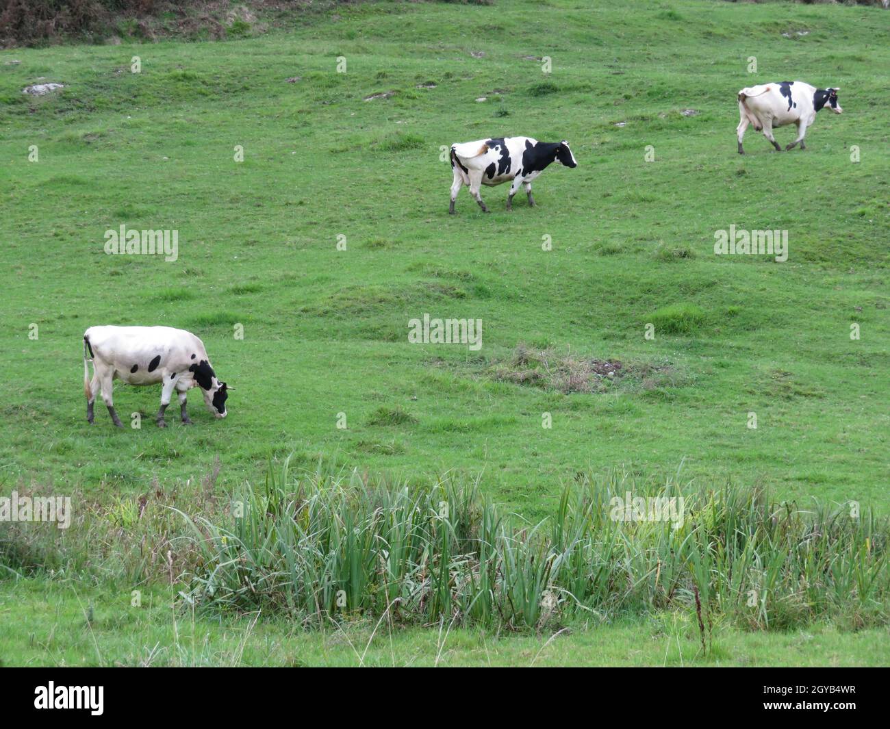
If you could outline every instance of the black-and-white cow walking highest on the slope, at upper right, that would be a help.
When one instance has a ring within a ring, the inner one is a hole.
[[[804,135],[806,127],[816,120],[816,112],[828,107],[835,114],[842,114],[844,109],[837,103],[838,86],[817,89],[803,81],[782,81],[781,84],[761,84],[742,89],[739,92],[739,154],[744,154],[741,147],[742,137],[748,124],[753,124],[756,131],[763,130],[764,136],[777,152],[781,152],[779,143],[773,138],[773,126],[797,125],[797,139],[791,142],[785,151],[794,149],[797,143],[805,150]]]

